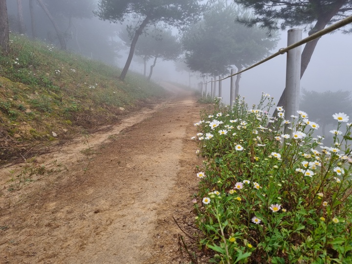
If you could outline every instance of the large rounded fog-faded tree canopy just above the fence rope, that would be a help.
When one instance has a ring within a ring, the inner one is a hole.
[[[276,46],[277,38],[268,38],[260,28],[248,29],[235,23],[236,16],[248,18],[249,14],[233,5],[226,5],[226,1],[219,1],[201,22],[185,31],[182,44],[190,69],[204,75],[225,75],[233,65],[240,70],[259,61]]]

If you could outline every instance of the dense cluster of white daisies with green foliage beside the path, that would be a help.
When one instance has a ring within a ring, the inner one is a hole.
[[[265,93],[250,110],[237,98],[195,123],[206,157],[195,202],[201,243],[223,263],[352,262],[349,116],[333,115],[324,146],[306,112],[285,120],[282,107],[268,115],[273,106]]]

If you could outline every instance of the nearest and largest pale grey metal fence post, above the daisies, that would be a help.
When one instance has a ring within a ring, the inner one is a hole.
[[[302,29],[293,28],[287,31],[287,46],[302,40]],[[299,107],[300,81],[301,81],[301,50],[302,46],[287,52],[286,61],[286,102],[284,106],[285,119],[291,123],[291,115],[297,115]],[[292,130],[285,126],[285,133],[291,134]]]

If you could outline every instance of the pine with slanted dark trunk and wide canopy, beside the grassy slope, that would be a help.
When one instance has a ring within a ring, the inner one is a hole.
[[[182,28],[199,18],[203,7],[198,0],[99,0],[98,10],[94,13],[102,20],[116,23],[130,18],[139,19],[129,57],[119,78],[125,79],[135,45],[147,25],[164,22]]]

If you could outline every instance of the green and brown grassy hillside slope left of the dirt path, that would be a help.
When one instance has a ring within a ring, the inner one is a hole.
[[[116,122],[121,107],[135,109],[167,95],[141,75],[121,82],[115,67],[24,36],[12,35],[10,42],[10,54],[0,55],[0,164]]]

